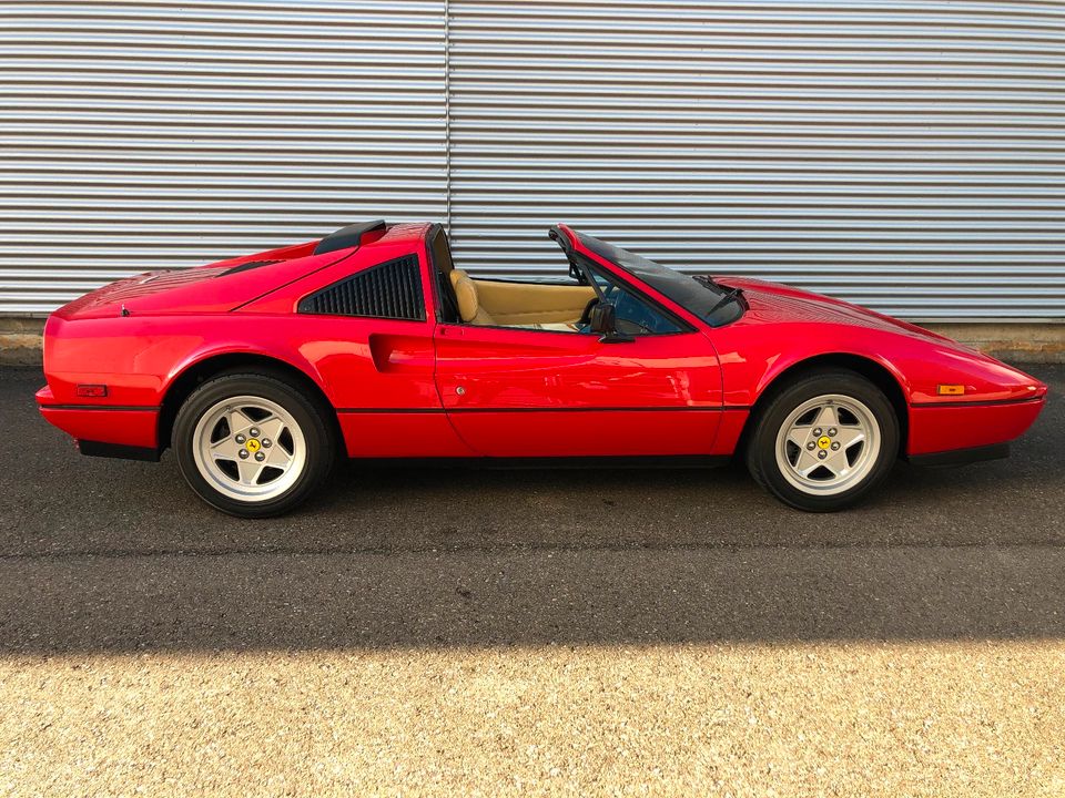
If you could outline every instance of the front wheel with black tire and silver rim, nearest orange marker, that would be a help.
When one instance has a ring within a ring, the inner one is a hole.
[[[751,474],[781,501],[811,512],[862,499],[899,452],[891,402],[850,371],[798,378],[777,391],[755,424],[747,451]]]

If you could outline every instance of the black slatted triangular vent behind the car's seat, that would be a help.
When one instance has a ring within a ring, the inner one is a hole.
[[[425,320],[422,270],[414,255],[372,266],[300,300],[298,311]]]

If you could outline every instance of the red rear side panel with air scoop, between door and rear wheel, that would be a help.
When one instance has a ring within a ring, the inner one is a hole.
[[[261,336],[281,349],[295,347],[316,372],[349,457],[475,453],[440,405],[433,287],[415,245],[409,235],[363,245],[351,258],[241,310],[268,314]]]

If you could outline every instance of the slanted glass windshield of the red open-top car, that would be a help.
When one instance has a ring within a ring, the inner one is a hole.
[[[743,303],[738,293],[719,286],[708,277],[681,274],[590,235],[577,231],[574,233],[590,252],[620,266],[712,327],[729,324],[743,315]]]

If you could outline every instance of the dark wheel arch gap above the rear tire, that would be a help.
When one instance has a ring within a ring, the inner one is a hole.
[[[308,393],[321,403],[325,411],[326,423],[332,428],[336,436],[338,446],[343,447],[343,434],[341,432],[339,419],[336,415],[336,408],[329,401],[328,396],[322,386],[311,375],[291,362],[282,360],[270,355],[262,355],[253,351],[233,351],[209,355],[191,364],[187,364],[179,371],[163,395],[163,401],[159,413],[158,441],[159,450],[162,451],[170,447],[174,430],[174,420],[178,418],[178,411],[185,399],[201,385],[209,379],[225,371],[237,369],[248,369],[266,375],[287,378],[288,381],[305,388]]]

